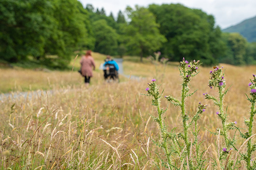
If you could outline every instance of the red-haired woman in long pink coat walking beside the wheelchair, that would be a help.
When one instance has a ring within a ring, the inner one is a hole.
[[[90,77],[93,76],[93,70],[95,70],[95,62],[91,54],[91,50],[87,50],[86,54],[82,56],[81,63],[81,74],[85,77],[85,84],[89,85]]]

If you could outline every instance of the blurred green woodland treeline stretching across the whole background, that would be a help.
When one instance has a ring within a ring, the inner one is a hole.
[[[181,4],[127,6],[117,17],[77,0],[0,0],[0,60],[66,67],[75,51],[170,61],[256,64],[256,43],[223,33],[214,16]]]

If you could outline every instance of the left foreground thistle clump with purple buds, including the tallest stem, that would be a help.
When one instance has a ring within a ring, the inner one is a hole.
[[[178,99],[171,95],[165,96],[165,98],[170,103],[172,103],[175,107],[179,107],[181,110],[180,115],[183,123],[183,128],[181,132],[175,132],[175,127],[170,131],[167,129],[163,115],[164,113],[166,113],[168,107],[166,109],[161,108],[160,99],[163,91],[162,93],[159,93],[159,86],[156,84],[156,80],[151,80],[151,83],[148,83],[149,86],[145,89],[147,91],[147,96],[152,97],[152,105],[157,108],[158,116],[153,117],[155,122],[159,124],[159,130],[162,138],[161,143],[157,143],[155,141],[153,142],[164,150],[164,153],[167,157],[167,162],[162,162],[166,167],[170,169],[183,169],[185,167],[195,170],[205,168],[206,159],[203,158],[203,154],[206,151],[200,151],[200,143],[198,142],[198,120],[200,119],[202,113],[205,111],[207,105],[199,102],[197,112],[194,114],[193,117],[191,117],[189,115],[189,112],[186,112],[185,109],[185,99],[195,93],[195,91],[193,93],[189,93],[189,84],[192,77],[198,74],[197,70],[199,66],[199,60],[197,62],[194,60],[189,63],[183,58],[183,61],[180,62],[179,66],[180,76],[182,78],[181,97]],[[193,139],[190,140],[191,134],[194,137],[194,141]],[[195,146],[196,156],[192,155],[192,146]],[[177,167],[177,162],[175,162],[175,164],[173,163],[172,159],[175,157],[175,155],[180,157],[180,168]]]

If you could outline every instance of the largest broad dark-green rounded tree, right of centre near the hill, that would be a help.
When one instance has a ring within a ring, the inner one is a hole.
[[[167,39],[161,48],[164,57],[174,61],[183,57],[200,59],[207,65],[217,62],[221,36],[213,16],[181,4],[152,4],[149,10],[156,16],[160,33]]]

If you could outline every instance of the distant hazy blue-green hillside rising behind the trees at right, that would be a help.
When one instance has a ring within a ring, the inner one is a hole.
[[[256,16],[250,19],[246,19],[243,22],[223,29],[223,32],[239,32],[249,42],[256,42]]]

